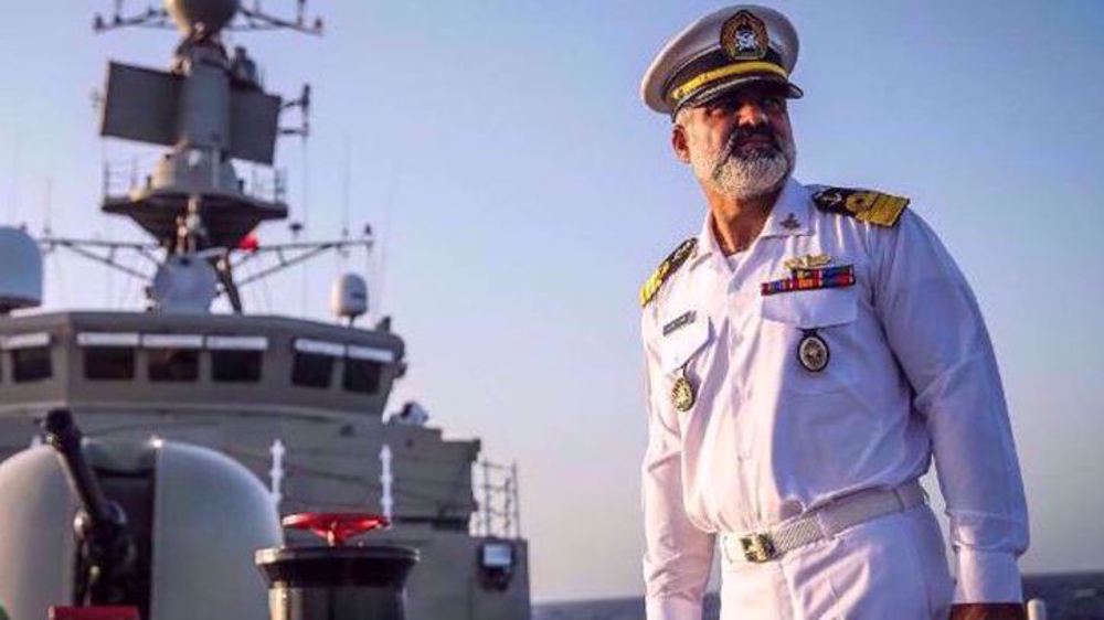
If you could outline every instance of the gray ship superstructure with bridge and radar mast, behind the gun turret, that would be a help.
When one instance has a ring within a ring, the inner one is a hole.
[[[485,464],[479,471],[497,480],[484,481],[477,501],[478,440],[445,439],[414,404],[384,418],[406,368],[405,348],[388,319],[355,325],[368,308],[364,280],[336,282],[335,322],[250,314],[243,306],[238,289],[247,281],[235,280],[243,263],[267,257],[264,276],[329,249],[369,252],[373,243],[365,235],[256,245],[258,225],[287,217],[283,177],[273,172],[259,186],[240,177],[235,162],[270,167],[280,135],[305,133],[309,88],[290,101],[265,92],[253,58],[243,47],[229,51],[220,33],[320,33],[321,23],[304,18],[301,0],[293,19],[252,4],[169,0],[164,9],[126,15],[117,6],[97,18],[102,30],[173,25],[182,36],[168,71],[112,63],[102,103],[104,136],[167,148],[123,191],[105,183],[102,210],[132,220],[151,242],[38,242],[146,278],[146,306],[34,310],[34,259],[17,247],[18,232],[0,234],[0,254],[25,258],[0,277],[0,458],[36,441],[34,420],[56,407],[73,410],[93,437],[213,448],[269,485],[285,514],[390,512],[394,526],[376,539],[422,554],[408,582],[413,620],[528,620],[516,470]],[[300,125],[283,127],[295,108]],[[123,266],[120,252],[147,258],[151,269]],[[220,296],[230,312],[212,311]]]

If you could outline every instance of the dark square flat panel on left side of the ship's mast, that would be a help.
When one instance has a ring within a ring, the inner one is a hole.
[[[180,78],[171,73],[112,63],[102,136],[172,146]]]

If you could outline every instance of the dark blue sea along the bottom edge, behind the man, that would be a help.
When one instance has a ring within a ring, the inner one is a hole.
[[[1028,575],[1023,594],[1045,601],[1047,620],[1104,620],[1104,573]],[[720,607],[716,595],[708,595],[703,620],[718,620]],[[644,600],[548,602],[533,607],[533,620],[644,620]]]

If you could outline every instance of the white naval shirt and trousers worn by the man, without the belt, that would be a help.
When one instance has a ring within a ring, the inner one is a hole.
[[[921,505],[767,563],[722,560],[722,620],[930,619],[946,617],[952,600],[1021,600],[1022,482],[965,278],[911,211],[877,226],[817,209],[814,190],[788,181],[735,260],[707,216],[691,256],[644,309],[648,620],[701,617],[718,534],[765,531],[856,491],[898,488],[933,456],[956,584]],[[786,259],[808,254],[853,265],[857,282],[761,295],[761,282],[789,275]],[[828,343],[820,373],[797,359],[805,329]],[[687,411],[671,399],[681,368],[697,396]]]

